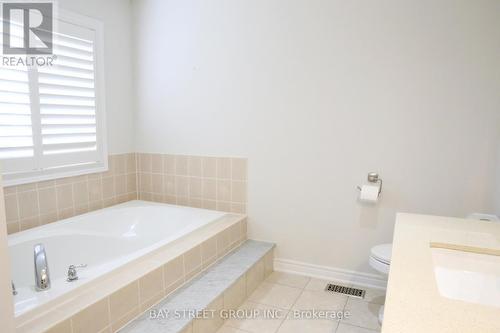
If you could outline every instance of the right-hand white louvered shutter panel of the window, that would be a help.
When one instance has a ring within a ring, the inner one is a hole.
[[[99,159],[95,102],[94,36],[59,23],[54,35],[57,65],[40,67],[42,164],[88,163]]]

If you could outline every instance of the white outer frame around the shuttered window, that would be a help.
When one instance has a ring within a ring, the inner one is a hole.
[[[34,183],[57,178],[79,176],[91,173],[105,172],[108,170],[108,147],[107,147],[107,127],[106,127],[106,102],[105,102],[105,79],[104,79],[104,25],[101,21],[80,15],[71,11],[56,9],[54,19],[54,29],[57,29],[58,21],[63,21],[72,25],[81,26],[85,29],[95,31],[94,41],[94,92],[95,92],[95,119],[96,119],[96,146],[97,155],[102,161],[83,165],[61,165],[42,170],[25,171],[19,173],[3,174],[3,185],[13,186],[27,183]],[[30,83],[31,85],[31,83]],[[39,124],[32,124],[39,126]],[[33,140],[40,140],[35,138]],[[36,156],[36,154],[35,154]],[[33,158],[36,158],[36,157]],[[11,159],[14,161],[15,159]],[[1,170],[2,160],[0,160]]]

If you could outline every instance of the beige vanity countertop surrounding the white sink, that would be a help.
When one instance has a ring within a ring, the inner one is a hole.
[[[500,250],[500,223],[398,214],[382,333],[500,332],[500,307],[442,296],[431,243]]]

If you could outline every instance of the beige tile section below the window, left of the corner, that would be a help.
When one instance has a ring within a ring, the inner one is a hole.
[[[108,161],[107,172],[5,187],[8,233],[137,199],[136,154]]]

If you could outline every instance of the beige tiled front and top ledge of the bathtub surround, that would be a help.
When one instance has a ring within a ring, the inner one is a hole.
[[[245,240],[245,216],[227,214],[87,288],[16,317],[16,332],[116,331]]]

